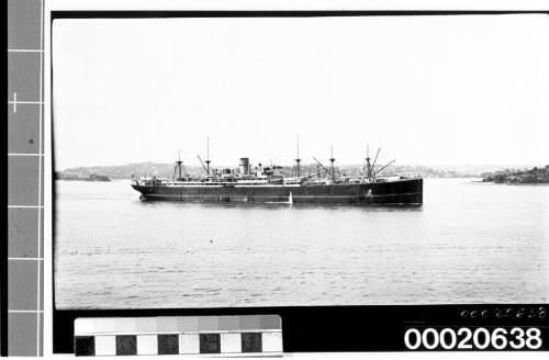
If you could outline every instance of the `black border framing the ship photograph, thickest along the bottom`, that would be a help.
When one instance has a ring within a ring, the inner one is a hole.
[[[57,19],[318,18],[549,14],[542,11],[53,11]],[[53,71],[53,70],[52,70]],[[52,80],[53,81],[53,80]],[[52,89],[53,91],[53,89]],[[52,113],[52,119],[53,119]],[[54,126],[55,121],[52,120]],[[52,134],[53,136],[53,134]],[[52,140],[54,142],[54,139]],[[55,184],[54,193],[55,209]],[[55,214],[54,214],[55,216]],[[55,224],[55,222],[54,222]],[[54,225],[55,226],[55,225]],[[54,241],[55,246],[55,241]],[[53,269],[52,269],[53,271]],[[53,284],[52,284],[53,286]],[[411,325],[442,328],[547,325],[545,304],[274,306],[60,311],[53,308],[54,353],[72,351],[77,317],[204,316],[277,314],[285,352],[404,351]],[[519,316],[522,313],[535,314]],[[547,344],[548,331],[542,333]]]

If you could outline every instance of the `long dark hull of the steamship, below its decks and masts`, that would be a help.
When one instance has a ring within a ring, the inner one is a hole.
[[[376,183],[337,183],[302,187],[190,188],[166,185],[132,187],[142,200],[251,203],[341,203],[365,205],[421,205],[423,179]]]

